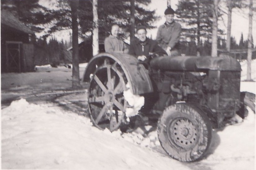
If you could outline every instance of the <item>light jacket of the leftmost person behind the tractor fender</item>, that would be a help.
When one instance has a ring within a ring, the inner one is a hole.
[[[105,39],[104,46],[107,53],[128,53],[128,48],[124,41],[112,35]]]

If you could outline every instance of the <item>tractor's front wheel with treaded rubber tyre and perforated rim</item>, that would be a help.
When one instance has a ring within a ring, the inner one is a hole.
[[[199,108],[178,103],[164,110],[158,121],[157,134],[168,155],[191,162],[201,159],[209,148],[212,126]]]

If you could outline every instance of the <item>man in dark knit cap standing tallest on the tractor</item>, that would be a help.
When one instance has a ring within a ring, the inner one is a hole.
[[[174,10],[168,7],[164,11],[166,22],[158,28],[156,41],[166,51],[168,56],[179,55],[179,37],[181,25],[174,21]]]

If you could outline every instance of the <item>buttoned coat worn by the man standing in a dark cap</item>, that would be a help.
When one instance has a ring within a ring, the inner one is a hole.
[[[156,41],[163,49],[171,47],[173,49],[178,49],[177,46],[181,33],[181,25],[179,23],[173,22],[169,25],[166,23],[158,28]]]

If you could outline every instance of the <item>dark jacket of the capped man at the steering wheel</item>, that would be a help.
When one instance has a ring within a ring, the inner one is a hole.
[[[129,54],[133,56],[146,56],[148,57],[150,53],[158,54],[159,56],[167,55],[164,49],[162,49],[155,40],[146,38],[144,42],[135,38],[130,43]]]

